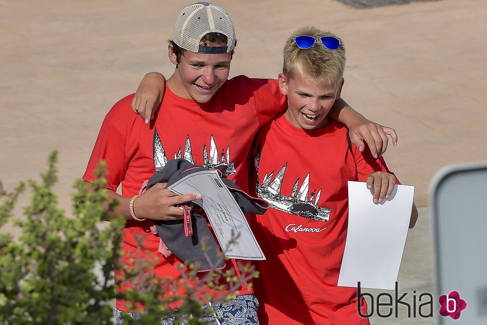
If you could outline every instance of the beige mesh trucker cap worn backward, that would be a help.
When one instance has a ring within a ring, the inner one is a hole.
[[[203,46],[201,38],[217,32],[228,39],[227,46]],[[216,4],[196,2],[184,8],[174,24],[173,41],[194,53],[219,54],[231,52],[237,44],[235,29],[228,14]]]

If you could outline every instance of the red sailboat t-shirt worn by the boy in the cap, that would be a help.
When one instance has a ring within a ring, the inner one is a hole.
[[[154,174],[156,168],[163,167],[165,159],[178,156],[209,167],[229,165],[227,170],[232,174],[228,178],[248,191],[248,153],[252,141],[259,128],[285,108],[286,101],[276,80],[246,76],[226,81],[205,104],[177,97],[166,88],[155,122],[147,125],[133,113],[130,107],[132,98],[130,95],[121,99],[105,116],[83,176],[84,180],[92,181],[94,169],[99,160],[104,159],[107,187],[116,191],[121,183],[122,195],[129,197],[139,194],[143,182]],[[123,261],[131,265],[130,258],[135,256],[137,247],[134,236],[142,236],[147,255],[158,257],[153,270],[155,276],[180,277],[177,265],[181,262],[174,255],[164,258],[158,252],[159,237],[150,232],[151,224],[150,220],[127,220],[123,229]],[[234,267],[229,264],[232,263],[227,263],[227,267]],[[120,272],[116,272],[115,279],[119,278]],[[205,290],[212,292],[208,288]],[[244,285],[240,294],[250,292]],[[117,301],[116,308],[128,311],[120,301]]]

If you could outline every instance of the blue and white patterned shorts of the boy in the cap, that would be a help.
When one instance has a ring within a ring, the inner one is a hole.
[[[205,306],[207,307],[207,306]],[[257,309],[259,302],[255,295],[248,294],[237,296],[223,304],[213,304],[217,318],[214,315],[207,315],[204,317],[206,321],[211,322],[212,325],[259,325],[257,318]],[[116,310],[116,324],[122,325],[120,320],[122,314],[128,314],[135,320],[140,320],[141,315],[136,313],[127,313]],[[174,319],[169,321],[161,320],[162,325],[174,325]]]

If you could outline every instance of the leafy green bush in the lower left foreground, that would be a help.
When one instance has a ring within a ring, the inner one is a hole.
[[[230,299],[237,288],[256,276],[253,268],[244,277],[219,270],[208,272],[203,279],[196,277],[193,266],[183,267],[180,279],[151,276],[154,261],[142,258],[138,248],[135,267],[128,268],[120,256],[123,218],[108,220],[107,207],[116,201],[105,195],[103,164],[98,180],[89,189],[83,180],[75,183],[73,211],[67,215],[58,208],[53,185],[57,181],[57,152],[51,153],[48,168],[41,181],[27,182],[32,195],[22,217],[12,217],[25,184],[11,192],[0,183],[0,324],[3,325],[78,325],[114,324],[114,299],[123,298],[135,308],[136,302],[144,310],[140,321],[124,317],[124,325],[159,324],[161,319],[176,318],[175,323],[208,324],[203,306],[218,301],[209,295],[196,294],[203,284],[218,289],[218,277],[230,282],[232,294],[219,298]],[[20,229],[18,236],[4,231],[8,222]],[[124,270],[122,282],[129,282],[132,290],[116,294],[114,268]],[[168,292],[173,293],[167,295]],[[174,310],[175,304],[179,306]]]

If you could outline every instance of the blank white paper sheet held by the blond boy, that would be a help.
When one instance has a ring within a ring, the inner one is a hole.
[[[365,182],[348,182],[348,231],[338,286],[394,290],[411,217],[414,186],[395,185],[383,204]]]

